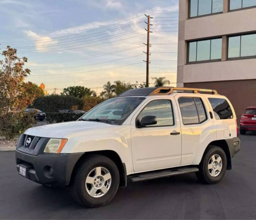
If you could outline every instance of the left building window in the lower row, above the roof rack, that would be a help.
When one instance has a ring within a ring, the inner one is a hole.
[[[191,41],[188,43],[188,62],[219,60],[222,55],[222,38]]]

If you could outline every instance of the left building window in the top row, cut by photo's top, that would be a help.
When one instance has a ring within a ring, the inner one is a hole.
[[[190,0],[190,18],[219,12],[223,12],[223,0]]]

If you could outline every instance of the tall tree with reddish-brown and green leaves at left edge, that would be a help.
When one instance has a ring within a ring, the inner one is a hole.
[[[4,61],[0,60],[0,131],[10,140],[15,135],[24,132],[35,121],[27,106],[39,96],[40,90],[24,79],[30,74],[29,69],[23,69],[27,58],[18,58],[17,50],[7,46],[2,52]]]

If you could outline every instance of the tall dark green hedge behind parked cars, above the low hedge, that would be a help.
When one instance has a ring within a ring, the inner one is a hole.
[[[57,112],[61,109],[72,109],[77,106],[78,110],[83,108],[83,101],[70,95],[47,95],[34,100],[33,107],[44,112]]]

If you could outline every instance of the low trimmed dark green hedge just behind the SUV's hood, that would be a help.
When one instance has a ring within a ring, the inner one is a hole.
[[[63,121],[76,121],[84,113],[62,113],[62,112],[46,112],[46,120],[49,124],[52,124],[54,121],[56,123]]]

